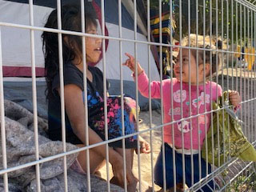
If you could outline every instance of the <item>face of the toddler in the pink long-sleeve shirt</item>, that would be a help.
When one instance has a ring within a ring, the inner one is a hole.
[[[182,61],[180,60],[180,54],[182,53]],[[189,60],[190,55],[190,60]],[[182,65],[182,70],[181,70]],[[203,64],[198,65],[198,84],[202,84],[204,80]],[[189,69],[190,68],[190,69]],[[196,58],[189,53],[189,49],[180,50],[176,64],[174,65],[175,77],[182,82],[191,82],[191,85],[197,85],[197,62]],[[182,78],[181,78],[182,77]]]

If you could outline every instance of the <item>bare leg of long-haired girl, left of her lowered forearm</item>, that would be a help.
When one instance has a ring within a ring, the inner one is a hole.
[[[77,145],[78,147],[83,147],[84,145]],[[94,148],[89,150],[90,153],[90,174],[95,174],[96,171],[98,171],[102,166],[105,165],[105,159],[102,158],[100,155],[98,155],[96,152],[94,152]],[[86,150],[82,150],[78,154],[78,162],[80,166],[82,166],[82,169],[86,172]]]

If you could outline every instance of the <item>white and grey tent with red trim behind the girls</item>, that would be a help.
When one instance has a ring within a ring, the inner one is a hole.
[[[42,27],[46,23],[46,19],[50,12],[56,7],[56,2],[53,0],[34,0],[34,26]],[[62,0],[62,4],[69,2],[79,2],[80,0]],[[86,0],[85,0],[86,2]],[[101,1],[92,0],[90,3],[94,8],[99,21],[101,18]],[[118,0],[104,1],[105,6],[105,33],[109,37],[119,38],[118,26]],[[142,4],[137,1],[138,5]],[[122,0],[122,38],[128,41],[122,41],[122,62],[126,60],[124,53],[128,52],[134,54],[134,10],[133,1]],[[138,8],[141,9],[141,8]],[[28,0],[0,0],[0,22],[13,23],[22,26],[30,26],[30,9]],[[145,16],[145,15],[144,15]],[[146,27],[145,20],[142,17],[141,11],[137,11],[137,40],[146,42]],[[100,22],[99,22],[100,23]],[[100,26],[100,25],[99,25]],[[44,71],[44,58],[42,53],[42,30],[34,30],[34,54],[36,74],[38,77],[43,77]],[[28,77],[31,76],[31,50],[30,50],[30,30],[24,28],[2,26],[1,27],[1,40],[2,40],[2,65],[4,77]],[[106,41],[106,78],[110,80],[110,94],[120,94],[120,70],[122,68],[124,94],[135,98],[135,84],[131,77],[130,70],[122,66],[119,58],[119,42],[118,40]],[[148,63],[150,60],[151,79],[159,80],[157,66],[155,65],[153,54],[150,52],[148,56],[148,46],[145,43],[137,43],[137,59],[143,66],[144,70],[148,71]],[[97,66],[102,70],[102,60],[98,62]],[[19,79],[18,82],[23,82]],[[5,78],[5,85],[10,86],[14,82],[9,82]],[[21,83],[23,85],[23,83]],[[25,85],[26,83],[24,83]],[[6,86],[5,86],[6,87]],[[25,90],[25,89],[24,89]],[[19,90],[21,91],[21,90]],[[19,93],[17,93],[19,94]],[[5,93],[6,95],[6,93]],[[8,95],[12,97],[17,95]],[[19,98],[23,99],[23,98]],[[139,95],[139,105],[143,109],[148,106],[148,99]],[[158,108],[159,102],[153,100],[153,108]]]

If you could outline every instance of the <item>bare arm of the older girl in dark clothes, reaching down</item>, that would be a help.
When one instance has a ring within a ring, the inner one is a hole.
[[[59,91],[58,91],[59,92]],[[78,136],[78,138],[86,144],[86,119],[85,119],[85,107],[82,99],[82,90],[75,86],[74,84],[69,84],[64,87],[64,95],[65,95],[65,109],[66,114],[70,119],[70,124],[74,131],[74,134]],[[88,134],[89,134],[89,143],[94,144],[98,142],[102,142],[102,138],[98,136],[88,126]],[[97,146],[94,147],[93,150],[102,158],[106,158],[106,146]],[[113,148],[109,147],[109,159],[110,163],[113,166],[114,176],[120,179],[120,181],[124,181],[123,176],[123,161],[122,156],[118,154]],[[129,182],[130,175],[127,174],[127,180]]]

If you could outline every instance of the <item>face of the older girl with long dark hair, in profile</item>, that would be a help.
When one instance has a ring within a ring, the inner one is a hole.
[[[97,34],[97,27],[91,24],[86,29],[87,34]],[[102,39],[86,37],[86,62],[98,62],[102,54]]]

